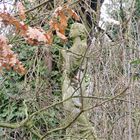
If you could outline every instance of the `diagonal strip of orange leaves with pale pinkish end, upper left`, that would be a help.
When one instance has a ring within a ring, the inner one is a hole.
[[[24,22],[18,21],[16,18],[8,13],[0,13],[2,21],[9,25],[14,25],[17,31],[20,31],[20,35],[27,40],[31,45],[39,45],[40,43],[47,43],[47,38],[44,35],[45,31],[36,27],[28,27]],[[50,41],[49,41],[50,42]]]

